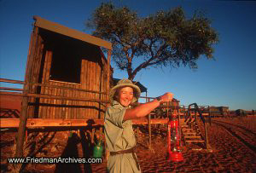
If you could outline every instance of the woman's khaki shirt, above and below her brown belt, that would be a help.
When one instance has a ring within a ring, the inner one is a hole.
[[[136,138],[132,129],[132,121],[123,122],[125,111],[118,101],[113,101],[108,107],[104,119],[104,133],[109,152],[118,152],[136,146]],[[109,172],[140,172],[132,157],[132,153],[117,154],[108,158]]]

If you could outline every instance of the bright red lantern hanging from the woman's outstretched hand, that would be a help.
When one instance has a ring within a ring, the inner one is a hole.
[[[168,153],[169,161],[183,161],[183,154],[181,153],[181,134],[175,114],[172,114],[172,118],[168,122]]]

